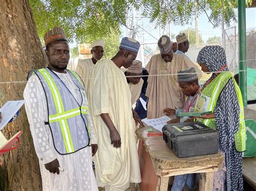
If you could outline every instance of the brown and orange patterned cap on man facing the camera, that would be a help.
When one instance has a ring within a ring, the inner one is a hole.
[[[59,27],[54,27],[52,30],[44,34],[44,44],[45,46],[49,45],[51,42],[56,40],[66,40],[66,35],[63,29]]]

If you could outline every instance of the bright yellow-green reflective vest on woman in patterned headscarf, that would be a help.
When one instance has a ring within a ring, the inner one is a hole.
[[[235,139],[235,149],[239,152],[245,151],[246,149],[246,130],[245,130],[245,120],[244,120],[244,104],[242,103],[242,95],[238,84],[234,81],[233,74],[231,72],[220,73],[215,77],[204,89],[199,93],[198,100],[196,103],[196,111],[212,111],[216,107],[218,97],[226,86],[228,80],[232,79],[235,86],[235,93],[237,94],[238,103],[240,106],[239,113],[239,129],[234,135]],[[217,129],[217,124],[215,118],[212,119],[202,119],[197,118],[205,125],[212,129]]]

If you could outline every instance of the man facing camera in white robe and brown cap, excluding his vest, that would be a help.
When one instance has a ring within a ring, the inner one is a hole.
[[[44,40],[49,71],[59,77],[66,86],[67,93],[70,91],[78,103],[86,103],[86,97],[82,97],[71,73],[66,70],[70,55],[64,31],[55,28],[45,34]],[[56,134],[52,133],[49,126],[49,108],[54,105],[46,100],[42,84],[37,74],[32,75],[24,90],[24,100],[33,143],[39,159],[43,190],[98,190],[92,169],[92,155],[97,151],[97,144],[90,114],[87,114],[87,117],[91,127],[89,132],[91,146],[60,154],[54,142],[58,137],[53,136]],[[79,141],[78,135],[72,136],[74,141]]]

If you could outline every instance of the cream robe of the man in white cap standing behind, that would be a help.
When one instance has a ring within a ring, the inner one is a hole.
[[[92,59],[78,59],[76,72],[79,74],[79,76],[82,78],[84,82],[84,87],[86,90],[87,96],[90,94],[90,79],[92,76],[93,68],[95,67],[95,64],[92,62]]]

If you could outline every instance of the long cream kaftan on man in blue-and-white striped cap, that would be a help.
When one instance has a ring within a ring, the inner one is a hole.
[[[134,138],[131,93],[126,77],[113,61],[99,61],[91,81],[91,109],[98,140],[95,156],[98,186],[125,190],[140,182],[139,159]],[[110,132],[100,114],[109,114],[122,145],[111,145]]]

